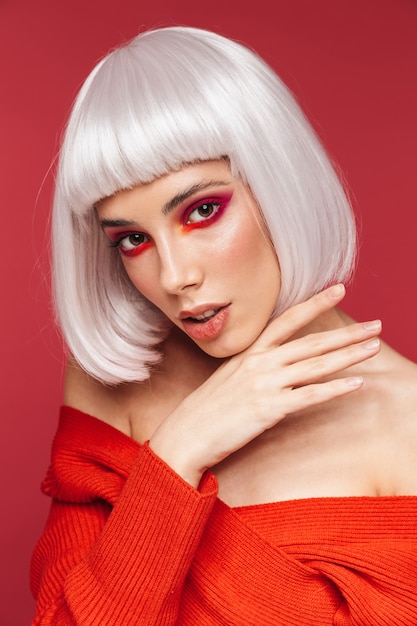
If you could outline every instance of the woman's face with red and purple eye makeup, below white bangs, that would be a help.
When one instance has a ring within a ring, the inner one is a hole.
[[[237,354],[265,328],[280,290],[278,260],[227,162],[121,191],[97,212],[135,287],[204,352]]]

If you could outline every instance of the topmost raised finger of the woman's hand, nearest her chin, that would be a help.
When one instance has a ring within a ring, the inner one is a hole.
[[[345,293],[344,285],[333,285],[305,302],[290,307],[267,326],[249,351],[263,350],[284,343],[319,315],[337,306]]]

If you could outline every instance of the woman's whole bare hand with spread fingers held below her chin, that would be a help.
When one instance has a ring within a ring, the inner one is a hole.
[[[335,285],[272,321],[181,402],[152,436],[151,449],[197,487],[205,470],[286,415],[359,389],[360,377],[326,379],[379,351],[380,322],[290,340],[343,296]]]

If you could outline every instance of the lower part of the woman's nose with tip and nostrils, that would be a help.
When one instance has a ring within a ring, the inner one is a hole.
[[[165,247],[160,253],[160,282],[162,288],[171,294],[181,293],[187,288],[198,287],[203,279],[201,258],[187,248],[184,242],[175,249]]]

